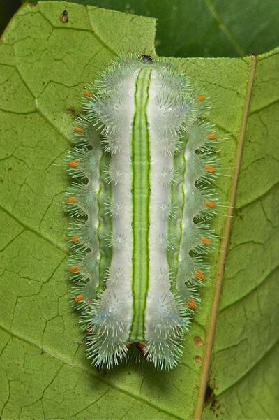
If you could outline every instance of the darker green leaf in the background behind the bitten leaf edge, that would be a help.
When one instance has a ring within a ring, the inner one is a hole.
[[[155,17],[158,19],[158,55],[243,57],[252,53],[260,54],[278,46],[277,0],[74,1]]]

